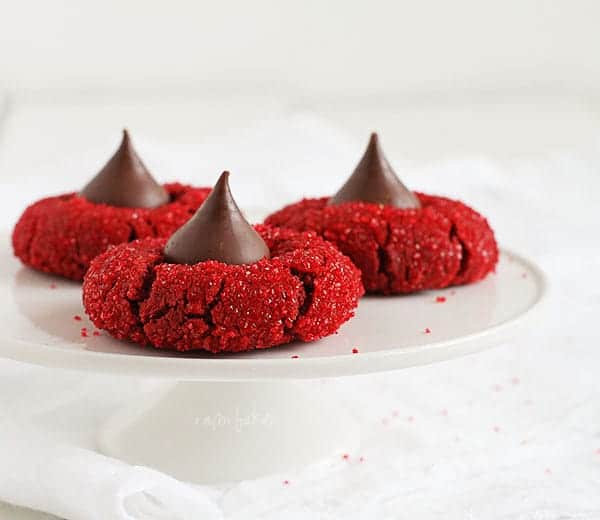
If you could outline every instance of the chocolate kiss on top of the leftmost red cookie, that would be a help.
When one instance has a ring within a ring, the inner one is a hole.
[[[123,130],[119,149],[80,195],[98,204],[126,208],[156,208],[169,202],[167,191],[133,149],[127,130]]]

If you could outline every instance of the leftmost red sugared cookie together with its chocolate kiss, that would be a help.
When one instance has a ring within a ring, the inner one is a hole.
[[[81,192],[45,198],[25,210],[13,231],[14,252],[29,267],[81,280],[108,246],[169,236],[209,193],[158,184],[124,131],[119,149]]]

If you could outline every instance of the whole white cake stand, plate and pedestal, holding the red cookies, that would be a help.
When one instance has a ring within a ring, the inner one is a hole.
[[[318,381],[301,380],[407,368],[483,350],[526,326],[547,290],[535,265],[503,251],[497,273],[481,283],[366,297],[337,335],[315,343],[182,356],[96,336],[80,284],[26,269],[8,248],[0,253],[0,266],[0,355],[173,382],[125,406],[99,433],[99,448],[198,483],[251,478],[352,451],[360,437],[351,418]]]

